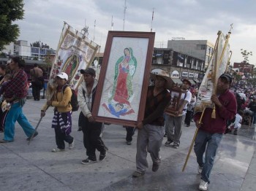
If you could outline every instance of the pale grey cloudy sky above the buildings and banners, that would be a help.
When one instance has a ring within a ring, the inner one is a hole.
[[[56,49],[64,21],[80,31],[89,26],[89,38],[105,49],[113,17],[114,31],[156,32],[155,47],[167,40],[207,39],[216,42],[217,32],[227,34],[230,24],[231,63],[243,61],[241,49],[252,51],[249,63],[256,65],[255,0],[24,0],[24,19],[18,21],[19,39],[41,41]],[[94,23],[96,24],[94,27]]]

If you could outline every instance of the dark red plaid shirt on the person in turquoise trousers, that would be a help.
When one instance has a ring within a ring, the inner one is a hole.
[[[27,90],[26,85],[28,83],[28,77],[23,69],[18,71],[18,74],[8,83],[8,87],[4,93],[4,98],[26,98]]]

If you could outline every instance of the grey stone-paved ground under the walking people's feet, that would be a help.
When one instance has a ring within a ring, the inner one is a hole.
[[[45,100],[28,100],[23,107],[34,126],[39,120],[42,104]],[[86,158],[86,153],[83,133],[77,131],[78,114],[74,112],[72,115],[75,148],[65,152],[50,152],[56,147],[51,128],[53,108],[48,109],[43,117],[38,128],[39,135],[30,145],[17,123],[15,141],[0,144],[0,190],[197,190],[200,176],[193,151],[187,168],[181,172],[195,133],[195,123],[192,122],[190,128],[184,127],[178,149],[165,147],[164,139],[159,171],[151,171],[152,162],[148,155],[148,171],[143,177],[134,179],[137,133],[129,146],[125,142],[124,128],[105,125],[103,140],[109,149],[106,159],[82,165],[80,162]],[[208,190],[256,190],[255,135],[255,128],[243,126],[238,136],[223,136]]]

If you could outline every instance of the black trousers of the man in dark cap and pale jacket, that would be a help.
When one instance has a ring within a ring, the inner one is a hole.
[[[96,160],[96,149],[99,152],[106,151],[105,144],[99,137],[102,132],[102,122],[89,122],[87,117],[80,115],[80,124],[83,131],[83,146],[86,148],[86,155],[90,160]]]

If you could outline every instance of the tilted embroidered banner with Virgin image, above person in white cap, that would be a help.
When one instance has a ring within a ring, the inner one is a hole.
[[[91,65],[98,47],[99,45],[86,35],[64,23],[48,85],[53,85],[57,74],[65,72],[69,76],[69,85],[72,89],[77,89],[83,80],[80,69],[86,69]]]

